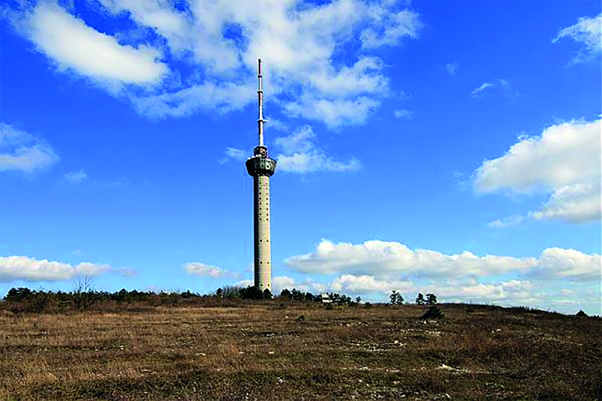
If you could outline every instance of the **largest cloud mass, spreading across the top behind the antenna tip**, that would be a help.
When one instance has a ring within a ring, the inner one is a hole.
[[[255,99],[261,57],[266,93],[291,116],[333,128],[362,124],[388,95],[375,52],[417,38],[421,27],[415,11],[390,1],[100,4],[90,12],[132,24],[111,34],[56,3],[5,8],[61,70],[117,87],[138,112],[158,118],[243,108]]]

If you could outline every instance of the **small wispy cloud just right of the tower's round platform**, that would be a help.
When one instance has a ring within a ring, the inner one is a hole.
[[[356,171],[362,167],[355,158],[347,162],[333,160],[315,146],[312,141],[314,137],[311,127],[302,126],[291,135],[276,138],[276,147],[282,149],[282,153],[277,156],[279,170],[305,174],[317,171]]]

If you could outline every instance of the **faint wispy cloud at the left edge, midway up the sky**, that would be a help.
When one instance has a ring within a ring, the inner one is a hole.
[[[58,161],[58,156],[42,139],[0,123],[0,171],[33,173]]]

